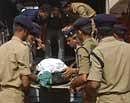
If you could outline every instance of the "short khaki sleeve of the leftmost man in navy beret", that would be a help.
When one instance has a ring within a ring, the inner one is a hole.
[[[29,48],[20,49],[17,53],[18,68],[21,75],[30,75],[29,68]]]

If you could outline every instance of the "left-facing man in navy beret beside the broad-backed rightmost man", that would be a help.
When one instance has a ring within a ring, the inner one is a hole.
[[[92,21],[87,18],[80,18],[74,23],[74,27],[77,28],[77,37],[81,42],[81,47],[77,49],[78,61],[79,61],[79,74],[88,74],[89,72],[89,55],[96,47],[97,42],[91,36]],[[85,76],[86,77],[86,76]]]

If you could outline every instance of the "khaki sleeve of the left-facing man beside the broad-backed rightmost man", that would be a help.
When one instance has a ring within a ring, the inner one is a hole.
[[[88,74],[89,72],[89,66],[90,66],[90,60],[89,60],[89,54],[86,52],[83,48],[80,48],[78,51],[78,57],[79,57],[79,73],[80,74]]]

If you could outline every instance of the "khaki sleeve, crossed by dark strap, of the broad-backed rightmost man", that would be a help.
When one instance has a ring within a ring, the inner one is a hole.
[[[94,50],[93,52],[103,61],[103,56],[99,50]],[[93,55],[90,56],[90,61],[91,67],[87,80],[101,81],[103,68],[101,67],[100,62]]]

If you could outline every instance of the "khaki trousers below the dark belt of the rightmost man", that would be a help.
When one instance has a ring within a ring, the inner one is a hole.
[[[96,103],[130,103],[130,92],[124,94],[101,95]]]

